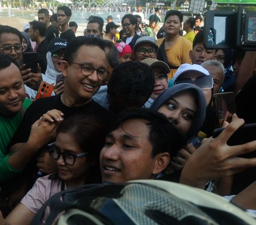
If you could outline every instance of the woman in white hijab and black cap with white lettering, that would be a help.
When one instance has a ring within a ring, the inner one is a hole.
[[[63,92],[64,82],[57,77],[62,77],[61,62],[64,58],[64,51],[68,41],[61,38],[52,38],[46,53],[47,68],[43,80],[51,85],[54,85],[54,93],[61,94]],[[57,81],[57,82],[56,82]]]

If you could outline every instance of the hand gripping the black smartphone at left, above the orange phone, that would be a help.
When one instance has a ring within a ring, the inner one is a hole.
[[[24,84],[33,90],[38,90],[41,82],[43,81],[42,74],[41,74],[41,68],[40,68],[39,64],[37,63],[37,73],[32,73],[30,68],[25,69],[25,67],[26,67],[25,64],[23,64],[20,67]]]

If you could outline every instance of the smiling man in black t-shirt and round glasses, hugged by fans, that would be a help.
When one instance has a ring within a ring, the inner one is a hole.
[[[68,41],[64,59],[61,62],[61,71],[64,77],[63,93],[37,99],[29,107],[10,142],[11,151],[30,147],[27,141],[32,135],[30,134],[31,125],[52,109],[61,112],[61,116],[53,116],[56,122],[60,122],[70,115],[92,113],[110,127],[113,115],[92,99],[108,73],[104,47],[103,40],[100,38],[79,36]],[[37,139],[39,141],[41,137],[38,136]],[[53,141],[51,140],[51,142]],[[35,151],[44,147],[42,140],[39,143],[41,144],[33,146]],[[54,161],[51,160],[47,152],[41,152],[37,160],[39,171],[45,174],[56,169]],[[33,168],[33,173],[36,174],[38,170],[36,165]]]

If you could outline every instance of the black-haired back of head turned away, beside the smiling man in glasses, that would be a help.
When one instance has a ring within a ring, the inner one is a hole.
[[[153,70],[145,63],[127,61],[118,64],[108,83],[110,110],[117,113],[127,107],[142,107],[154,86]]]

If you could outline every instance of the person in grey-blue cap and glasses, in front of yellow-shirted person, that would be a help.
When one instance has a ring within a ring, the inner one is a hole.
[[[141,62],[148,58],[156,59],[157,49],[158,45],[154,37],[141,37],[133,47],[134,60]]]

